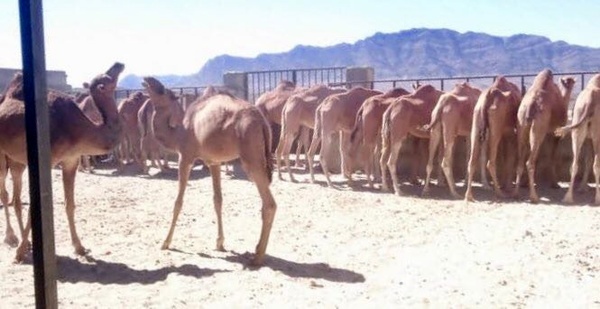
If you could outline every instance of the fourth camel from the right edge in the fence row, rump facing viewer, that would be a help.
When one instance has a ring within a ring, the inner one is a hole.
[[[433,160],[440,142],[443,142],[444,155],[441,167],[446,176],[448,189],[453,197],[462,198],[456,192],[452,171],[454,166],[454,142],[457,137],[468,136],[471,133],[473,110],[480,94],[481,90],[471,87],[467,83],[459,83],[452,91],[443,94],[438,100],[431,113],[431,123],[427,125],[427,129],[430,130],[429,159],[425,169],[423,195],[429,193]]]

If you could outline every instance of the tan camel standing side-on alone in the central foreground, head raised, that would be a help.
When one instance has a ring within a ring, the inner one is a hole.
[[[250,103],[224,91],[212,88],[183,113],[173,93],[157,79],[145,77],[144,88],[155,108],[152,127],[163,146],[179,153],[179,190],[173,209],[171,227],[162,249],[168,249],[190,171],[196,159],[209,167],[213,183],[213,203],[217,215],[217,250],[224,251],[221,219],[220,164],[240,158],[242,167],[258,188],[262,200],[262,230],[252,263],[262,264],[277,205],[269,188],[271,160],[271,128],[261,112]]]

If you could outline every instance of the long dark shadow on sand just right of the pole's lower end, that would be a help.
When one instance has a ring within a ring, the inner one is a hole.
[[[85,257],[82,262],[66,256],[57,256],[58,275],[60,282],[93,282],[100,284],[153,284],[164,281],[167,276],[177,273],[194,278],[210,277],[216,273],[230,272],[225,269],[199,268],[196,265],[168,266],[159,269],[133,269],[123,263],[103,261]]]

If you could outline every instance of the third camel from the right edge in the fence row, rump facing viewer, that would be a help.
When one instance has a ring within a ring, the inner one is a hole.
[[[495,194],[500,197],[504,196],[496,173],[498,147],[502,141],[515,137],[517,110],[520,103],[519,87],[503,76],[496,77],[492,85],[479,96],[473,110],[471,125],[466,201],[474,201],[472,184],[476,164],[480,160],[480,151],[487,153],[487,158],[482,160],[482,164],[485,164],[490,172]],[[512,166],[512,164],[506,164],[504,168],[512,169]],[[483,169],[481,174],[482,182],[485,182]]]

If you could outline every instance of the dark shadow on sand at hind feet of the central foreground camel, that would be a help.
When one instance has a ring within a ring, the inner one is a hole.
[[[248,266],[251,265],[252,258],[254,257],[253,253],[237,253],[234,251],[231,251],[231,253],[232,255],[223,257],[222,259],[242,264],[244,268],[258,269]],[[362,274],[347,269],[331,267],[326,263],[297,263],[267,255],[262,267],[271,268],[294,278],[324,279],[345,283],[365,282],[365,276]]]

